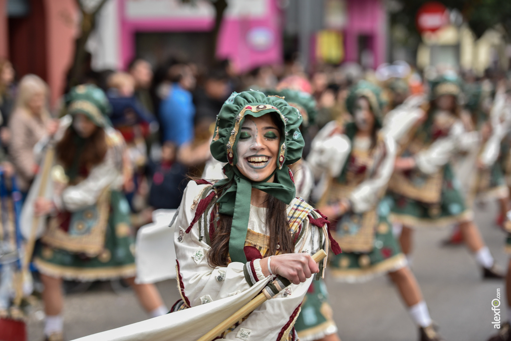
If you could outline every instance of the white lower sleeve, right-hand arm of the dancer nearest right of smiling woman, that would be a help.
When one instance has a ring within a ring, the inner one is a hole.
[[[380,193],[386,188],[396,160],[396,142],[388,136],[384,138],[385,155],[375,174],[363,181],[350,195],[352,210],[362,213],[374,208],[381,199]]]

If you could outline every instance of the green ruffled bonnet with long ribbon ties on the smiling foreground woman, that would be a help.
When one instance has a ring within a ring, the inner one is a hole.
[[[246,116],[261,117],[268,113],[273,113],[282,121],[275,178],[274,182],[266,182],[268,179],[252,182],[236,167],[239,132]],[[232,261],[246,262],[243,247],[248,228],[252,188],[260,189],[285,204],[290,204],[295,197],[292,174],[287,165],[301,158],[304,139],[299,126],[302,119],[299,111],[288,105],[285,100],[277,96],[266,96],[259,91],[233,92],[217,115],[210,149],[215,159],[227,162],[224,166],[227,179],[217,182],[214,186],[225,187],[217,201],[219,212],[233,216],[229,239],[229,255]]]

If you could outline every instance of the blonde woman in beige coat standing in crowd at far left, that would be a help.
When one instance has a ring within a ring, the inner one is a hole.
[[[9,121],[12,136],[9,154],[24,196],[37,173],[34,146],[43,137],[55,133],[57,127],[58,122],[52,120],[48,111],[48,85],[36,75],[23,77]]]

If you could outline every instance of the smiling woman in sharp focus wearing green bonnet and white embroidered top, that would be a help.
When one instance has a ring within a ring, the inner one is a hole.
[[[233,93],[211,143],[212,155],[227,162],[227,178],[191,181],[184,191],[174,240],[182,300],[173,311],[236,295],[276,275],[293,283],[224,339],[296,339],[300,303],[312,275],[323,274],[324,262],[318,267],[311,255],[329,248],[327,221],[295,198],[287,166],[301,157],[300,123],[298,111],[280,98]]]

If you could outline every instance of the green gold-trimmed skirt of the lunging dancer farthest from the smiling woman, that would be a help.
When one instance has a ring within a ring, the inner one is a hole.
[[[441,190],[440,202],[436,204],[389,192],[393,199],[390,220],[408,227],[443,227],[472,220],[472,211],[467,209],[450,164],[444,166]]]

